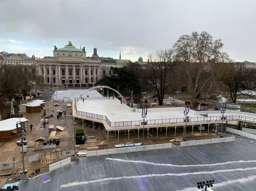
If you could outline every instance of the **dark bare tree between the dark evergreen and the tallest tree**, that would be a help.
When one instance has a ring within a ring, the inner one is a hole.
[[[150,53],[148,58],[150,79],[156,89],[158,103],[162,105],[164,95],[172,85],[169,73],[175,65],[175,62],[173,62],[173,50],[158,50],[155,53]]]

